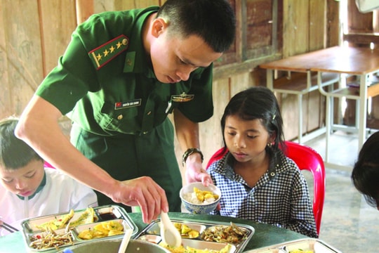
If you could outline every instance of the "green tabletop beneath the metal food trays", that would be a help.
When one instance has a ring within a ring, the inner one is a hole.
[[[141,213],[131,213],[129,214],[131,219],[134,221],[135,226],[138,227],[138,231],[142,231],[147,224],[142,222]],[[270,245],[277,245],[283,242],[288,242],[292,240],[304,239],[307,236],[294,231],[290,231],[284,228],[279,228],[277,226],[272,226],[265,223],[257,223],[255,221],[249,221],[246,219],[237,219],[227,216],[219,215],[208,215],[208,214],[187,214],[187,213],[175,213],[171,212],[168,214],[171,219],[181,219],[187,221],[207,221],[207,222],[226,222],[230,223],[244,223],[246,225],[253,226],[255,233],[251,240],[245,247],[245,250],[258,249],[260,247],[268,247]],[[0,237],[0,252],[1,253],[26,253],[27,248],[25,247],[25,242],[22,238],[21,232],[12,233]]]

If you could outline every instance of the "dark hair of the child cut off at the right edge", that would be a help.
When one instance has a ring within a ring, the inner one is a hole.
[[[379,206],[379,132],[371,135],[359,151],[352,169],[352,182],[368,205]]]

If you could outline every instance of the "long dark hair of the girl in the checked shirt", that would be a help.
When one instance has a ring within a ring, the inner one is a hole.
[[[285,148],[283,119],[281,118],[277,98],[270,89],[255,86],[234,95],[227,104],[224,115],[221,118],[222,133],[225,131],[225,119],[230,115],[237,115],[244,120],[259,119],[270,136],[272,134],[276,136],[271,146],[274,155],[281,153],[280,148]],[[222,138],[225,144],[223,134]],[[224,146],[226,147],[226,145]]]

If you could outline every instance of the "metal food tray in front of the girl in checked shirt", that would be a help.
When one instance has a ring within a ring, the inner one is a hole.
[[[213,249],[213,250],[220,250],[224,248],[227,243],[226,242],[210,242],[206,240],[201,239],[201,233],[204,233],[206,229],[212,228],[212,227],[219,227],[219,226],[230,226],[230,223],[226,222],[203,222],[203,221],[196,221],[196,220],[181,220],[181,219],[172,219],[173,223],[180,223],[185,224],[189,228],[194,229],[195,231],[199,231],[199,236],[197,238],[188,238],[187,236],[182,235],[182,245],[183,247],[193,247],[195,249]],[[244,248],[246,247],[248,241],[253,236],[255,229],[252,226],[234,223],[234,225],[238,226],[241,230],[245,231],[246,236],[244,239],[241,240],[241,242],[237,244],[230,243],[232,245],[232,249],[229,253],[238,253],[242,252]],[[147,240],[149,242],[157,243],[159,244],[161,242],[161,236],[160,236],[160,226],[161,221],[156,220],[152,221],[146,228],[144,228],[138,235],[135,236],[135,239],[137,240]]]

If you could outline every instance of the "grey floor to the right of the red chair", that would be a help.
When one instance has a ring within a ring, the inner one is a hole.
[[[358,154],[358,137],[335,133],[332,138],[332,156],[344,165],[353,166]],[[324,136],[305,145],[324,157]],[[378,252],[379,211],[366,204],[364,197],[352,186],[350,174],[351,169],[326,167],[326,196],[319,239],[344,253]],[[306,176],[307,181],[310,181],[309,176]]]

